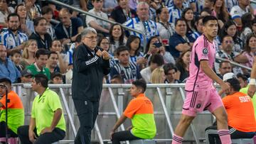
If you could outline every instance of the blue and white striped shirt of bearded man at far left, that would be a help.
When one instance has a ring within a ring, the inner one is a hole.
[[[28,40],[28,36],[25,33],[18,31],[17,35],[14,35],[9,29],[1,32],[0,42],[6,47],[6,49],[12,49],[21,45],[21,43]]]

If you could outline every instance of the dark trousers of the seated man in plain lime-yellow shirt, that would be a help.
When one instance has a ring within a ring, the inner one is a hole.
[[[29,126],[21,126],[18,128],[18,138],[20,138],[21,144],[32,144],[29,140],[28,128]],[[40,136],[37,135],[35,128],[34,133],[36,134],[37,139],[33,144],[51,144],[65,138],[65,131],[61,130],[60,128],[54,128],[53,132],[43,133]]]

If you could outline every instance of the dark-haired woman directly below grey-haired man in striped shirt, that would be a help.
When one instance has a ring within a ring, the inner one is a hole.
[[[140,45],[141,40],[138,36],[129,35],[129,38],[127,39],[127,48],[129,48],[130,61],[136,62],[137,65],[139,65],[140,70],[142,70],[145,67],[147,60],[143,57]]]

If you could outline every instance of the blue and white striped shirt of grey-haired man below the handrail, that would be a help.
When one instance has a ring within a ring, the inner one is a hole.
[[[156,27],[156,22],[151,21],[151,20],[142,22],[139,20],[138,17],[131,18],[124,23],[124,26],[133,28],[135,30],[142,31],[143,33],[145,33],[146,41],[148,41],[149,38],[151,38],[151,36],[159,35],[159,33],[157,31],[157,27]],[[127,33],[128,33],[128,35],[137,35],[141,39],[142,44],[144,43],[142,34],[135,33],[134,31],[127,31]]]

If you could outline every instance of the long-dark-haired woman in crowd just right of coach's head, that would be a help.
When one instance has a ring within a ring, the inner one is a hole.
[[[118,23],[110,27],[110,53],[113,55],[114,50],[120,45],[125,45],[124,29]]]

